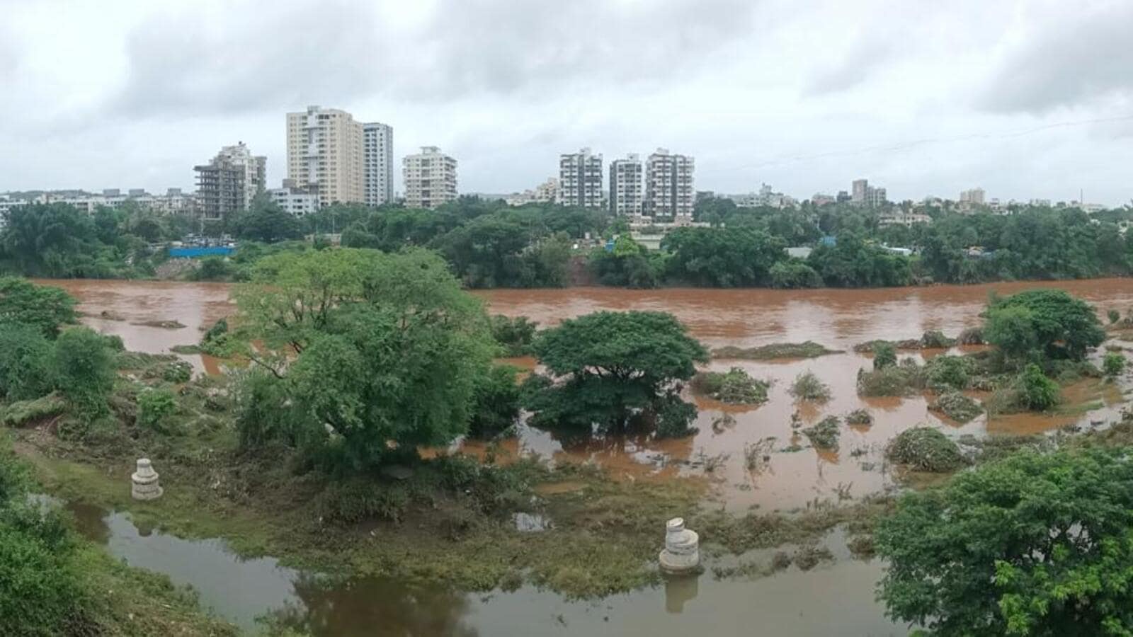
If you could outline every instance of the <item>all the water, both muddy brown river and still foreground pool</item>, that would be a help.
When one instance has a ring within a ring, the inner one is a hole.
[[[162,353],[195,343],[201,331],[231,314],[229,286],[151,281],[43,281],[75,295],[84,322],[122,337],[129,349]],[[878,290],[491,290],[477,292],[493,313],[527,315],[542,325],[598,309],[658,309],[676,315],[708,347],[752,347],[813,340],[842,354],[806,360],[713,360],[713,370],[741,366],[773,382],[767,404],[738,409],[696,399],[700,408],[696,435],[667,441],[611,436],[585,442],[520,427],[502,457],[539,455],[552,461],[594,461],[624,479],[693,476],[712,485],[713,506],[736,512],[795,510],[816,500],[860,498],[896,484],[884,462],[885,443],[918,424],[952,435],[1023,434],[1055,430],[1074,422],[1106,421],[1124,401],[1122,389],[1085,381],[1064,389],[1067,404],[1087,406],[1072,415],[1015,415],[965,425],[940,419],[923,396],[863,399],[855,375],[869,367],[854,343],[871,339],[918,338],[927,330],[955,336],[980,323],[979,313],[993,291],[1007,295],[1036,287],[1059,287],[1092,303],[1102,315],[1133,307],[1133,279],[994,283]],[[104,314],[105,313],[105,314]],[[138,325],[178,321],[181,329]],[[904,353],[903,353],[904,354]],[[937,351],[912,354],[932,356]],[[202,373],[220,373],[220,362],[185,356]],[[530,367],[533,360],[514,360]],[[821,405],[799,405],[787,387],[810,371],[832,389]],[[791,427],[792,414],[804,424],[827,415],[869,409],[874,424],[842,426],[837,451],[818,451]],[[725,413],[732,418],[722,423]],[[768,440],[774,439],[774,440]],[[774,451],[757,470],[743,461],[744,445],[763,441]],[[800,451],[785,451],[792,444]],[[477,444],[454,445],[472,453]],[[265,613],[284,614],[320,636],[353,635],[656,635],[678,636],[708,629],[714,635],[904,635],[908,629],[885,619],[874,601],[881,564],[849,558],[838,534],[827,544],[838,559],[811,571],[792,567],[756,580],[671,581],[658,588],[600,602],[568,602],[548,592],[461,594],[366,579],[325,583],[286,569],[273,560],[240,560],[220,542],[189,542],[136,529],[122,513],[86,510],[85,532],[130,563],[191,584],[203,603],[249,630]],[[705,538],[706,541],[708,538]],[[658,542],[661,537],[658,537]]]

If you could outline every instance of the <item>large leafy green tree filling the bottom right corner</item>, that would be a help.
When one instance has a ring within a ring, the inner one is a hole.
[[[1133,465],[1020,453],[901,498],[876,532],[889,614],[934,635],[1128,635]]]

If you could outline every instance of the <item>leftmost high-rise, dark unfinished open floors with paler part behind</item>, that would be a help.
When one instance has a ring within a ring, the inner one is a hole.
[[[197,172],[197,206],[208,221],[247,210],[252,198],[264,192],[267,158],[253,155],[240,142],[224,146]]]

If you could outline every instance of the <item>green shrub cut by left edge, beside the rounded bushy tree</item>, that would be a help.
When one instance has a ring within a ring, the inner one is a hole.
[[[49,391],[51,342],[24,323],[0,323],[0,398],[29,400]]]

